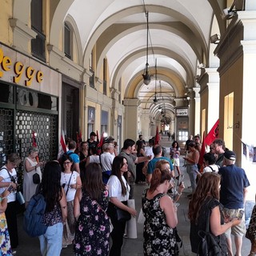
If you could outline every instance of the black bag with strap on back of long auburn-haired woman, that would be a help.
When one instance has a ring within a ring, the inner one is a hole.
[[[220,237],[217,240],[210,232],[210,210],[206,218],[206,230],[199,230],[198,236],[202,239],[198,245],[198,254],[203,256],[222,256]]]

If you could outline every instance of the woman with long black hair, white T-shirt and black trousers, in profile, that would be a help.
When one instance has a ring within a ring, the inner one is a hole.
[[[113,161],[112,174],[107,185],[109,186],[110,203],[108,214],[114,226],[111,232],[112,246],[110,256],[120,256],[123,242],[123,234],[126,229],[126,221],[118,221],[116,207],[127,211],[130,215],[136,216],[137,212],[127,206],[130,186],[127,182],[128,164],[126,158],[116,156]]]

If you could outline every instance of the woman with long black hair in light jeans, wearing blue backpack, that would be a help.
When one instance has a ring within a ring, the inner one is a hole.
[[[62,250],[63,223],[66,221],[66,194],[61,186],[62,168],[57,161],[47,162],[42,174],[39,193],[46,199],[46,211],[42,223],[46,234],[39,236],[43,256],[60,255]]]

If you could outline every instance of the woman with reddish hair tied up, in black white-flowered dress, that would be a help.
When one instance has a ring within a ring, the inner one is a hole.
[[[166,194],[170,188],[170,170],[155,169],[150,188],[142,194],[144,255],[177,255],[174,228],[178,224],[177,207]]]

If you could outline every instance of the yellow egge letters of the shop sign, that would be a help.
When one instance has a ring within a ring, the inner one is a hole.
[[[25,80],[25,86],[31,86],[33,79],[35,79],[36,82],[42,82],[42,71],[34,70],[32,66],[26,67],[22,62],[15,62],[13,65],[10,57],[4,56],[2,48],[0,48],[0,64],[2,67],[2,70],[0,69],[0,78],[2,78],[4,74],[3,71],[8,72],[13,67],[14,73],[16,74],[13,78],[13,82],[18,83],[22,78],[22,74],[25,74],[27,78]]]

